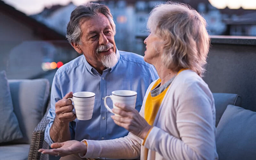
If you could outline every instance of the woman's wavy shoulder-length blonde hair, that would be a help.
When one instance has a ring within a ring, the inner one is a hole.
[[[148,28],[164,40],[162,62],[167,68],[189,68],[203,76],[210,38],[196,10],[185,4],[160,4],[150,12]]]

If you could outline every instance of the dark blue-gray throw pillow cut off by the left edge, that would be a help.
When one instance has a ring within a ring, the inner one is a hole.
[[[0,72],[0,143],[22,138],[5,71]]]

